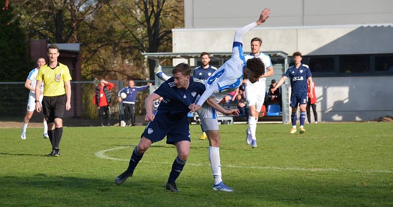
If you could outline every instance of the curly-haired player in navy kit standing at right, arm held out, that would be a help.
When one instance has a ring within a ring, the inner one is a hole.
[[[313,87],[311,71],[308,65],[302,64],[302,53],[295,52],[293,53],[293,62],[294,66],[289,67],[284,76],[280,79],[279,83],[272,89],[272,92],[275,92],[287,78],[291,81],[291,103],[290,107],[292,107],[292,128],[289,133],[296,133],[296,111],[298,110],[298,106],[300,106],[300,134],[306,132],[304,129],[304,122],[306,120],[306,106],[307,106],[307,93],[308,87],[307,82],[309,82],[310,87]],[[311,94],[312,98],[312,94]]]

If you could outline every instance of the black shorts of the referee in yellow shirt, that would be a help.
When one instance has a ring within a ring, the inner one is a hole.
[[[65,109],[65,94],[44,96],[42,98],[42,113],[48,123],[55,122],[55,118],[63,118]]]

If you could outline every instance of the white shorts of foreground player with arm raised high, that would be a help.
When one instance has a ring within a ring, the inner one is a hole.
[[[215,109],[213,109],[207,103],[204,103],[197,113],[200,118],[200,123],[202,124],[203,132],[219,130],[217,119],[218,115]]]

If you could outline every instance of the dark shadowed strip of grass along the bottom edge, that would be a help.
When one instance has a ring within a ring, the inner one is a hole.
[[[164,173],[164,174],[163,174]],[[165,191],[169,172],[138,174],[122,185],[113,179],[48,176],[0,177],[2,199],[42,206],[61,202],[68,206],[387,206],[393,201],[389,185],[355,184],[314,178],[263,178],[227,180],[233,193],[215,192],[209,179],[180,177],[180,194]],[[164,176],[165,175],[165,176]],[[56,190],[54,190],[56,189]],[[4,200],[3,200],[4,201]],[[34,203],[35,202],[35,203]],[[38,203],[37,203],[38,202]],[[39,203],[41,202],[41,203]],[[132,202],[132,203],[129,203]]]

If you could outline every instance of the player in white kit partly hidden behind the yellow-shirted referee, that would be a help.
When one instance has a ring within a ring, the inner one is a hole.
[[[21,138],[22,139],[26,139],[26,129],[28,127],[28,122],[31,118],[31,116],[34,113],[35,110],[35,83],[37,82],[35,80],[35,77],[38,74],[39,69],[41,68],[41,66],[45,65],[45,58],[44,57],[39,57],[37,59],[37,68],[32,69],[29,73],[28,73],[28,78],[26,79],[26,83],[25,83],[25,87],[30,90],[30,92],[28,93],[28,107],[27,107],[27,112],[25,117],[23,118],[23,125],[22,125],[22,134],[21,134]],[[40,104],[42,102],[42,92],[44,91],[44,83],[41,84],[41,95],[40,95]],[[43,138],[49,138],[48,136],[48,125],[47,122],[44,118],[44,135]]]

